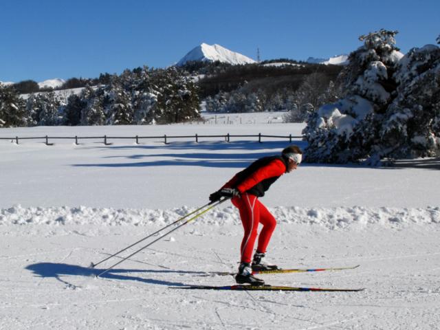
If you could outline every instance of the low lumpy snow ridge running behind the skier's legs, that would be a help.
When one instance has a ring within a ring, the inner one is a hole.
[[[113,208],[23,208],[20,205],[0,209],[0,225],[167,225],[194,208],[183,206],[171,210]],[[410,224],[440,223],[440,207],[428,208],[271,208],[278,223],[318,225],[330,230],[348,227],[365,228],[381,225],[386,228]],[[232,206],[217,208],[195,223],[239,225],[239,214]]]

